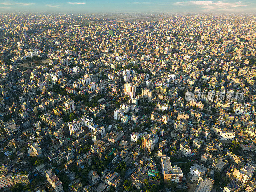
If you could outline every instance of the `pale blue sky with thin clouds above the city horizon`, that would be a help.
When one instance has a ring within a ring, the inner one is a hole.
[[[57,13],[175,13],[175,12],[237,12],[255,13],[255,0],[0,0],[0,12]]]

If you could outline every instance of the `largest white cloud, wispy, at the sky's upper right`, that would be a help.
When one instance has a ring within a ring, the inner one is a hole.
[[[178,6],[198,6],[204,11],[228,11],[234,8],[248,6],[242,1],[227,2],[227,1],[183,1],[175,2],[174,5]]]

